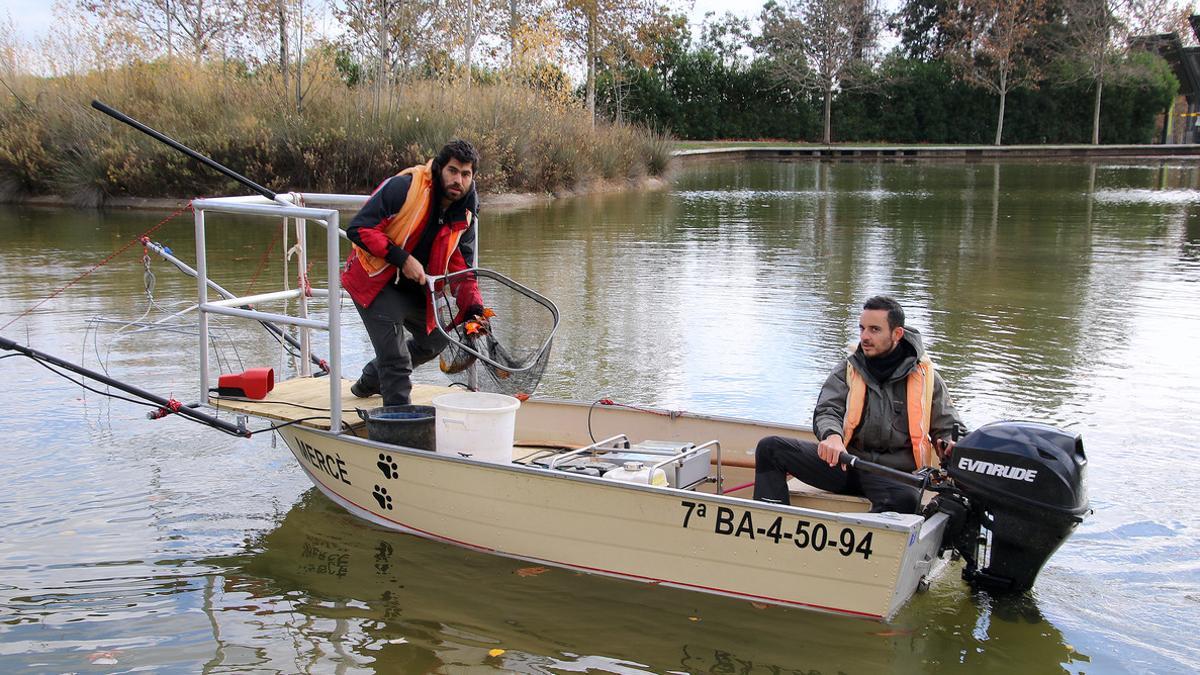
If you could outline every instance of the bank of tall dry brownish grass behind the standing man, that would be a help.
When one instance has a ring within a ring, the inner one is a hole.
[[[92,110],[118,108],[274,190],[368,192],[454,137],[479,148],[487,192],[554,192],[658,175],[670,138],[592,126],[564,96],[520,84],[416,82],[348,88],[331,65],[305,72],[305,97],[272,74],[191,62],[140,64],[65,78],[26,77],[0,94],[0,199],[245,193],[235,183]]]

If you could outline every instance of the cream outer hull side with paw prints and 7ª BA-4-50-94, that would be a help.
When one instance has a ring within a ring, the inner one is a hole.
[[[876,620],[937,567],[944,516],[830,513],[280,430],[330,500],[401,532],[649,584]]]

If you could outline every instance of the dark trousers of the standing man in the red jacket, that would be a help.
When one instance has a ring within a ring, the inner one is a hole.
[[[442,333],[425,331],[425,299],[389,283],[366,307],[358,303],[354,306],[376,351],[376,358],[362,366],[359,384],[383,394],[385,406],[408,405],[413,369],[432,360],[446,346]],[[413,336],[407,344],[406,328]]]

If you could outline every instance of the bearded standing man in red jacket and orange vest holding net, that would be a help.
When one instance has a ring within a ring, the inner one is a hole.
[[[354,244],[342,287],[354,300],[376,358],[350,387],[355,396],[383,394],[383,405],[410,402],[413,368],[446,345],[425,275],[472,265],[475,250],[475,168],[479,154],[451,141],[432,161],[384,180],[362,205],[346,235]],[[455,322],[484,313],[474,275],[450,288],[458,305]],[[404,341],[404,329],[412,335]]]

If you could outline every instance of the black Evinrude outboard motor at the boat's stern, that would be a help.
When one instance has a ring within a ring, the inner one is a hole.
[[[1082,438],[1045,424],[996,422],[964,436],[948,465],[959,494],[938,496],[952,516],[943,548],[962,554],[970,583],[1028,590],[1088,513]],[[979,527],[991,532],[982,560]]]

